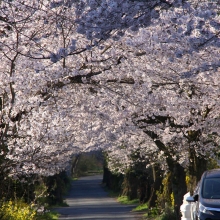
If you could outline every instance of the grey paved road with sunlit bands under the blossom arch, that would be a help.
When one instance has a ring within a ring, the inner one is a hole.
[[[73,181],[71,190],[65,201],[69,207],[57,208],[59,220],[139,220],[131,213],[133,205],[119,204],[101,186],[102,176],[82,177]]]

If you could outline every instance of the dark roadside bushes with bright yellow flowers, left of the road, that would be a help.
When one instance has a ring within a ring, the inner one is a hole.
[[[0,208],[3,220],[57,219],[57,214],[49,209],[52,205],[66,205],[63,195],[70,187],[70,179],[65,172],[45,178],[32,176],[32,179],[26,178],[26,182],[8,178],[8,183],[10,193],[4,194],[7,198],[1,201]]]

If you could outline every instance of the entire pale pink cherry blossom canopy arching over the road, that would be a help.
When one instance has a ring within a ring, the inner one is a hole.
[[[164,169],[214,157],[219,5],[1,1],[2,172],[51,175],[100,148],[124,167],[136,150]]]

